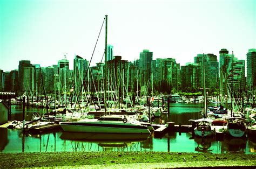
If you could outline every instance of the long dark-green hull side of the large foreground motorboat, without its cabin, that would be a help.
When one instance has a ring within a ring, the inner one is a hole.
[[[133,124],[113,124],[113,123],[79,123],[63,122],[61,128],[68,132],[96,132],[96,133],[149,133],[146,126]]]

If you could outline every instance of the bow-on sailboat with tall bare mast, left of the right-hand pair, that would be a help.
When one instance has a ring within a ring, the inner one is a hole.
[[[203,54],[203,77],[204,77],[204,118],[197,119],[196,128],[194,128],[194,134],[199,137],[211,137],[215,135],[215,129],[212,127],[213,119],[207,117],[206,107],[206,91],[205,91],[205,67],[204,67],[204,54]]]

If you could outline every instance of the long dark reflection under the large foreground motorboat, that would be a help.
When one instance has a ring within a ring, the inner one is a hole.
[[[85,140],[92,142],[131,142],[143,141],[149,138],[149,136],[149,134],[63,132],[60,138],[64,140]]]

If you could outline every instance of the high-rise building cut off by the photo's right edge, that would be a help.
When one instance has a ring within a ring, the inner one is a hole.
[[[247,84],[256,87],[256,49],[252,48],[247,53]]]

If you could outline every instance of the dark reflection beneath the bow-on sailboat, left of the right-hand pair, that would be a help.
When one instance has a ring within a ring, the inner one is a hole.
[[[198,152],[211,152],[213,149],[211,148],[212,142],[214,142],[213,137],[205,138],[205,137],[194,137],[194,141],[196,142],[195,151]]]

